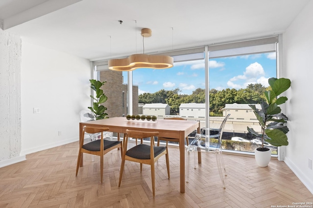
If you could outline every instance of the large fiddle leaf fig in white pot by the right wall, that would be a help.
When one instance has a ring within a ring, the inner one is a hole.
[[[271,150],[264,146],[264,142],[268,142],[275,147],[288,145],[286,135],[289,132],[287,127],[288,117],[281,113],[279,107],[288,98],[286,96],[277,98],[277,96],[290,88],[291,81],[287,78],[277,79],[272,77],[268,79],[268,84],[271,90],[264,92],[266,102],[261,102],[261,109],[257,109],[255,105],[249,105],[261,125],[261,134],[247,127],[248,132],[261,137],[262,145],[255,149],[255,160],[260,167],[268,166],[271,156]]]

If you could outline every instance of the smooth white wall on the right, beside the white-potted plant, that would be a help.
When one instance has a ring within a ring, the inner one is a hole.
[[[284,74],[291,79],[287,91],[289,101],[286,114],[289,145],[285,162],[313,193],[313,170],[308,168],[308,159],[313,160],[312,113],[308,106],[313,103],[313,1],[292,22],[283,34]]]

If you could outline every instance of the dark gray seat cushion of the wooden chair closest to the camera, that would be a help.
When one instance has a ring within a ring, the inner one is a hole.
[[[166,150],[165,147],[153,147],[155,157]],[[139,144],[126,152],[127,156],[134,157],[137,159],[150,159],[150,145]]]

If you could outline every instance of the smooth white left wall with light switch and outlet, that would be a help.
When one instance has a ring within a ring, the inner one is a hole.
[[[22,39],[21,154],[78,140],[79,112],[90,106],[90,69],[87,59]]]

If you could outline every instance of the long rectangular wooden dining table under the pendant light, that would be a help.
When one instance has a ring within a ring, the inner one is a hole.
[[[117,133],[118,141],[120,140],[120,133],[126,134],[127,129],[159,132],[158,136],[179,139],[180,192],[185,192],[185,137],[194,130],[198,130],[199,132],[199,121],[157,119],[156,122],[153,122],[127,120],[126,117],[112,117],[79,123],[80,140],[83,138],[84,126],[108,127],[110,132]],[[80,165],[83,166],[83,157]]]

